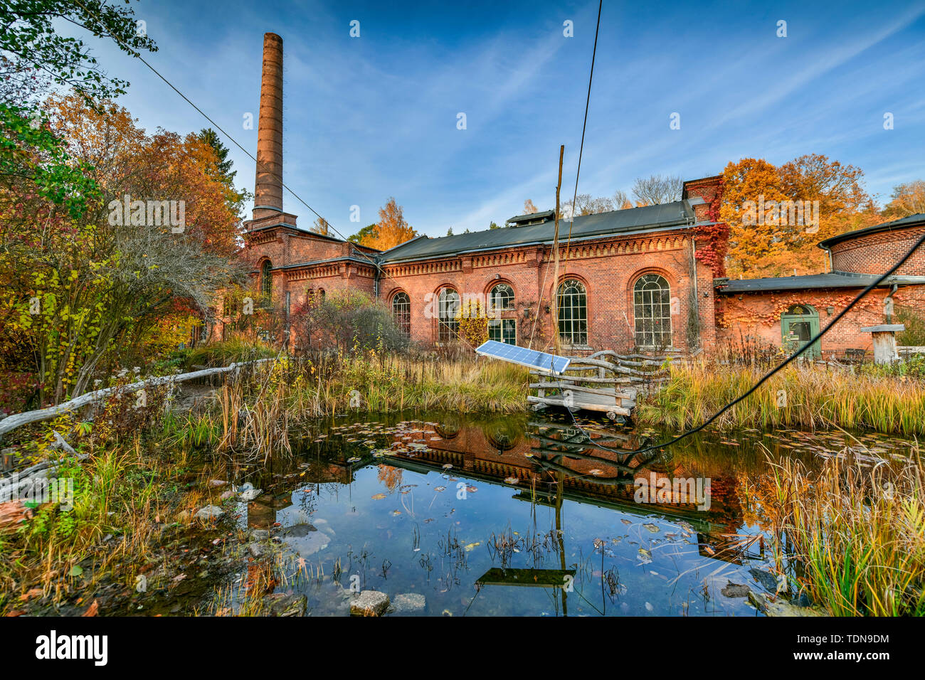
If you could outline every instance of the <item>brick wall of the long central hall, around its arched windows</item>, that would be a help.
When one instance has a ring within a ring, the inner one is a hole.
[[[577,278],[586,287],[590,349],[633,348],[633,286],[647,273],[660,274],[669,282],[673,344],[678,349],[687,348],[688,310],[696,296],[691,276],[691,236],[691,230],[684,229],[582,241],[571,246],[567,260],[566,249],[561,247],[560,281]],[[555,290],[552,259],[551,248],[534,246],[388,265],[380,283],[381,298],[391,303],[396,292],[408,293],[412,339],[429,344],[438,338],[438,320],[436,304],[428,302],[441,288],[451,287],[461,297],[487,296],[498,283],[508,283],[514,291],[515,310],[501,316],[517,319],[517,343],[525,346],[533,338],[535,349],[548,348],[553,337],[551,308],[547,311]],[[698,277],[702,278],[698,278],[698,286],[711,286],[709,269],[698,267]],[[703,306],[707,307],[702,310],[703,319],[709,325],[709,304]],[[579,348],[570,349],[581,353]]]

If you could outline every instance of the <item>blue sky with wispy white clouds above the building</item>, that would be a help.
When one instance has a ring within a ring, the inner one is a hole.
[[[389,196],[432,236],[502,223],[526,198],[547,209],[560,144],[562,194],[572,195],[597,2],[132,6],[158,44],[146,56],[154,68],[252,153],[256,129],[242,121],[258,110],[263,34],[282,36],[284,181],[345,236],[376,221]],[[131,81],[119,103],[142,127],[207,126],[139,61],[88,43]],[[861,167],[882,202],[895,184],[925,179],[923,93],[925,3],[605,0],[578,192],[819,153]],[[253,191],[253,161],[226,144]],[[284,202],[311,226],[308,208],[288,192]]]

